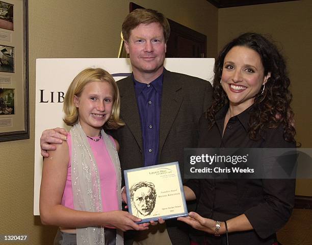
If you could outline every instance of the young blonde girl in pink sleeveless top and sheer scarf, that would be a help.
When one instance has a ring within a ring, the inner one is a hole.
[[[60,229],[54,244],[123,244],[122,231],[148,224],[121,210],[121,171],[116,140],[102,129],[117,129],[120,99],[116,82],[100,68],[81,71],[64,101],[67,141],[44,159],[40,218]]]

